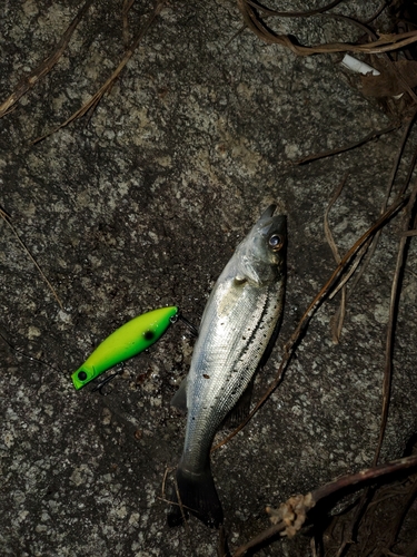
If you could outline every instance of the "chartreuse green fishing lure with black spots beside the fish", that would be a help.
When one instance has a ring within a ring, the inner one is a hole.
[[[86,362],[71,375],[73,387],[79,390],[113,365],[129,360],[148,349],[166,332],[178,315],[178,307],[159,307],[138,315],[110,334]]]

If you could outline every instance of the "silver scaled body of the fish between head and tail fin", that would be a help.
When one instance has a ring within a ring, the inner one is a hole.
[[[226,270],[225,270],[226,271]],[[181,466],[199,470],[214,436],[248,387],[282,311],[284,277],[267,286],[215,286],[202,316],[187,399],[188,420]],[[201,339],[201,340],[200,340]]]

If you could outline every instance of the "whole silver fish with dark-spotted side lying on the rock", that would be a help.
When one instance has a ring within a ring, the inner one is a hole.
[[[210,527],[222,522],[210,470],[214,437],[251,384],[282,313],[287,219],[274,216],[275,209],[271,205],[265,211],[217,280],[188,378],[171,402],[188,410],[178,492],[182,506]],[[168,524],[181,521],[179,506],[172,505]]]

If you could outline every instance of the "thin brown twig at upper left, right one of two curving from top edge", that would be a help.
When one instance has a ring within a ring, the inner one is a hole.
[[[66,120],[64,123],[60,124],[56,128],[51,129],[50,131],[48,131],[48,134],[44,134],[43,136],[38,137],[37,139],[33,139],[33,141],[31,141],[32,145],[37,144],[39,141],[42,141],[44,138],[47,138],[50,135],[54,134],[59,129],[68,126],[68,124],[70,124],[71,121],[73,121],[73,120],[76,120],[78,118],[81,118],[90,109],[95,110],[95,108],[97,107],[97,105],[100,102],[100,100],[106,95],[106,92],[111,89],[111,87],[113,86],[116,79],[119,77],[119,75],[122,71],[122,69],[125,68],[125,66],[128,63],[128,61],[130,60],[130,58],[133,56],[133,52],[137,49],[139,42],[142,40],[142,38],[147,33],[147,31],[150,29],[150,27],[152,26],[153,21],[156,20],[156,18],[161,12],[161,10],[163,8],[163,4],[166,2],[167,2],[167,0],[158,0],[157,1],[157,4],[156,4],[153,11],[149,16],[149,18],[148,18],[147,22],[145,23],[145,26],[142,27],[142,29],[139,31],[139,33],[136,37],[136,39],[133,40],[131,47],[128,50],[126,50],[125,56],[123,56],[122,60],[120,61],[119,66],[111,74],[111,76],[107,79],[107,81],[100,87],[100,89],[79,110],[77,110],[76,113],[73,113],[72,116],[70,116],[68,118],[68,120]]]

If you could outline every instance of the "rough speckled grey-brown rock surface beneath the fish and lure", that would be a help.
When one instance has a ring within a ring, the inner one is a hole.
[[[366,8],[363,4],[366,3]],[[3,0],[0,101],[42,61],[78,7]],[[305,9],[322,2],[270,6]],[[367,17],[377,1],[349,2]],[[236,2],[171,1],[93,114],[46,140],[122,58],[121,1],[93,2],[60,62],[0,120],[0,206],[54,286],[61,310],[0,221],[0,554],[4,557],[215,556],[218,534],[197,520],[166,526],[162,480],[176,466],[185,418],[169,405],[192,338],[172,326],[129,361],[107,395],[76,392],[70,373],[130,317],[178,304],[198,324],[214,281],[260,212],[288,215],[282,332],[257,380],[259,397],[284,343],[335,267],[324,212],[341,253],[378,217],[400,131],[306,166],[290,160],[341,146],[388,124],[354,89],[340,56],[297,58],[241,28]],[[135,35],[150,13],[135,2]],[[348,12],[347,7],[340,9]],[[355,40],[329,19],[282,20],[301,41]],[[408,152],[407,152],[408,153]],[[404,177],[405,165],[400,176]],[[398,219],[348,303],[341,342],[311,321],[285,380],[212,459],[229,545],[268,526],[278,505],[370,466],[378,439],[384,339]],[[384,458],[416,432],[417,243],[410,242],[396,330]],[[219,434],[219,439],[222,433]],[[257,555],[309,554],[308,537]]]

